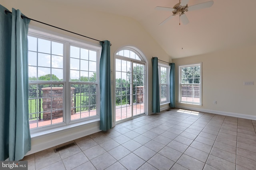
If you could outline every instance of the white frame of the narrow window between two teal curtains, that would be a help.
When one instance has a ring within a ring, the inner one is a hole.
[[[162,91],[162,83],[161,83],[161,67],[166,68],[166,83],[167,89],[166,89],[166,100],[161,101],[161,91]],[[160,100],[160,105],[164,104],[169,104],[170,103],[170,65],[164,64],[164,63],[159,63],[158,62],[158,79],[159,79],[159,100]]]

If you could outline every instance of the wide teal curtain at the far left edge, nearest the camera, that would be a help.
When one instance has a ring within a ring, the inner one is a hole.
[[[28,24],[20,10],[0,5],[0,160],[20,160],[31,148],[28,121]]]

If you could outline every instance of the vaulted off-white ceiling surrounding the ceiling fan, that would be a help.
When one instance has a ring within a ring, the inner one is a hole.
[[[164,25],[178,0],[54,0],[72,6],[128,16],[137,20],[172,58],[211,53],[256,43],[256,0],[214,0],[210,8],[186,12],[190,23],[179,25],[175,16]],[[188,6],[209,0],[189,0]],[[183,49],[182,49],[183,48]]]

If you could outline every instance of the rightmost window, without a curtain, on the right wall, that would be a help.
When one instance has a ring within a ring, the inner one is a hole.
[[[179,66],[179,102],[202,104],[201,63]]]

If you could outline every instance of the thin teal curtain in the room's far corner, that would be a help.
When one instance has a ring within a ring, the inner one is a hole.
[[[170,63],[170,107],[175,107],[175,64]]]

